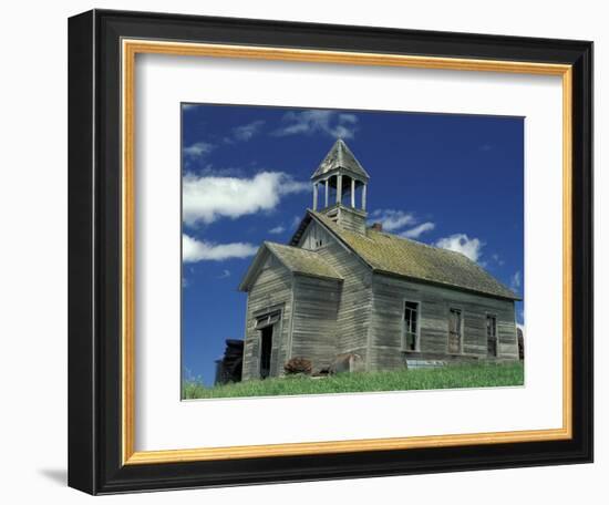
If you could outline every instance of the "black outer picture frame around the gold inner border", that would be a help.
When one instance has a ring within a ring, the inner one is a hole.
[[[123,465],[121,40],[572,65],[572,437]],[[93,10],[69,21],[69,485],[91,494],[592,461],[592,43]]]

